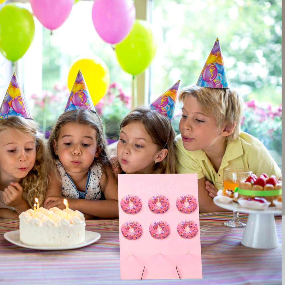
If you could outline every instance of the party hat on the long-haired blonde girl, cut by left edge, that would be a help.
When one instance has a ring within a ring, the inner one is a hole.
[[[0,119],[7,119],[11,116],[33,119],[15,72],[0,108]]]

